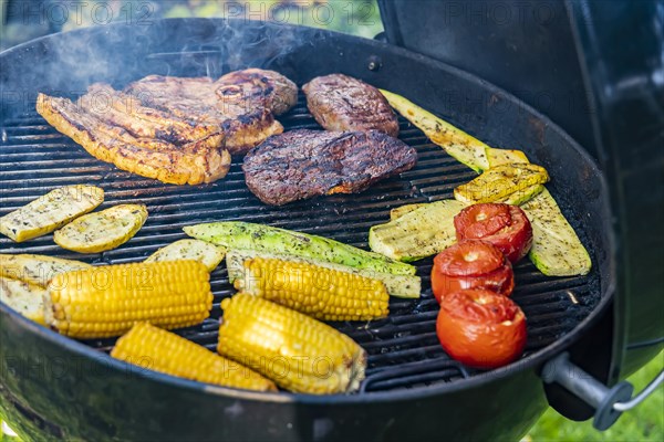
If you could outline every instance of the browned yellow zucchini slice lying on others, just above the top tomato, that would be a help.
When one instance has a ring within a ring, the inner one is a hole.
[[[543,167],[523,164],[500,165],[454,189],[454,198],[466,204],[492,202],[547,181],[549,173]]]

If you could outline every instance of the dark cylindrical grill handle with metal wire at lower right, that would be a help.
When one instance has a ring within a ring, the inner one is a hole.
[[[570,361],[569,352],[562,352],[548,361],[541,372],[547,383],[557,382],[595,409],[592,425],[608,430],[620,415],[643,402],[664,381],[664,370],[632,399],[634,387],[627,381],[612,388],[604,386],[591,375]]]

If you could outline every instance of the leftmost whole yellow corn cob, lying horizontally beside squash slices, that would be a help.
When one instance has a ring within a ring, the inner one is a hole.
[[[75,338],[120,336],[139,322],[199,324],[212,307],[209,274],[196,261],[105,265],[61,273],[49,284],[46,324]]]

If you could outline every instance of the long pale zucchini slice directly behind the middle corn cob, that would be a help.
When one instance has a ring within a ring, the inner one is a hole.
[[[284,253],[266,253],[255,250],[231,249],[226,254],[226,267],[228,269],[228,281],[234,283],[236,280],[246,277],[245,261],[262,257],[266,260],[281,260],[297,263],[309,263],[319,267],[335,270],[345,273],[378,280],[385,284],[385,288],[391,296],[404,298],[418,298],[422,292],[422,281],[416,275],[394,275],[392,273],[378,273],[371,270],[354,269],[347,265],[335,264],[329,261],[314,260],[288,255]]]

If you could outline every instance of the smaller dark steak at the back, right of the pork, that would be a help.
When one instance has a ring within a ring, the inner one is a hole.
[[[381,130],[398,136],[398,120],[374,86],[343,74],[319,76],[302,86],[307,107],[328,130]]]

